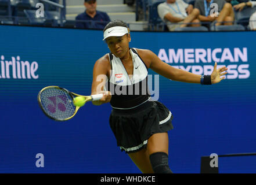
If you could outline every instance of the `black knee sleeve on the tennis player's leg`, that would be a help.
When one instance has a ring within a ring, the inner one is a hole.
[[[168,165],[168,155],[164,152],[156,152],[149,156],[154,173],[172,173]]]

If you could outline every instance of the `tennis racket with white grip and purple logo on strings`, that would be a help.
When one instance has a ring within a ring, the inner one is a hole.
[[[46,116],[56,121],[66,121],[74,117],[80,108],[73,104],[75,97],[84,97],[85,102],[88,102],[101,99],[103,94],[83,96],[70,92],[66,88],[48,86],[39,91],[37,100]]]

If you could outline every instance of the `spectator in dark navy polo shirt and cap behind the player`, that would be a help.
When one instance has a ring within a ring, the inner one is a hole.
[[[96,0],[85,0],[84,6],[86,8],[85,12],[75,17],[76,28],[104,29],[104,27],[111,21],[107,13],[96,10]]]

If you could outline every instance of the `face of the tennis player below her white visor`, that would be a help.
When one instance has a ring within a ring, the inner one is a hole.
[[[129,42],[131,41],[131,37],[129,34],[125,34],[124,36],[111,36],[106,39],[107,46],[111,53],[118,58],[122,58],[129,51]]]

